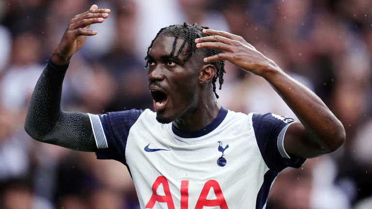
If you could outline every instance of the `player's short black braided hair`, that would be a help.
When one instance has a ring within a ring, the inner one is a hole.
[[[157,32],[155,38],[151,42],[150,46],[147,48],[147,54],[149,54],[151,47],[154,44],[154,41],[157,37],[161,36],[173,36],[174,37],[174,42],[173,42],[173,48],[171,51],[171,55],[175,54],[175,57],[178,57],[182,50],[185,48],[186,44],[188,44],[190,47],[188,49],[188,52],[186,54],[186,57],[184,59],[184,62],[189,60],[194,54],[195,51],[197,50],[196,44],[195,44],[195,39],[200,38],[203,36],[207,36],[206,34],[202,33],[203,29],[208,29],[208,27],[201,27],[198,26],[196,23],[194,24],[188,24],[184,23],[182,25],[171,25],[165,28],[162,28]],[[184,42],[182,43],[181,47],[178,49],[178,51],[175,53],[176,49],[176,43],[178,39],[184,39]],[[204,52],[203,56],[204,57],[209,57],[213,55],[217,55],[221,53],[221,51],[216,50],[216,49],[199,49]],[[216,98],[219,96],[216,93],[216,81],[218,78],[219,82],[219,89],[222,89],[222,84],[223,84],[223,74],[226,73],[225,71],[225,61],[224,60],[218,60],[214,62],[210,62],[213,66],[215,66],[217,70],[217,74],[212,78],[212,86],[213,86],[213,92],[216,95]],[[145,68],[148,67],[148,62],[146,62]]]

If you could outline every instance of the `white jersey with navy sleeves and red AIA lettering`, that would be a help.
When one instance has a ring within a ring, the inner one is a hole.
[[[279,171],[305,162],[283,147],[294,120],[272,113],[221,107],[197,131],[161,124],[149,109],[89,117],[97,158],[128,167],[141,209],[263,209]]]

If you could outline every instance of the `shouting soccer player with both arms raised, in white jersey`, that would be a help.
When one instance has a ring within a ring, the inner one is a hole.
[[[282,169],[345,140],[326,105],[242,37],[187,23],[161,29],[148,48],[155,112],[61,111],[69,60],[109,12],[93,5],[71,19],[36,84],[25,129],[36,140],[125,164],[141,209],[262,209]],[[265,78],[300,121],[221,107],[216,81],[223,83],[224,60]]]

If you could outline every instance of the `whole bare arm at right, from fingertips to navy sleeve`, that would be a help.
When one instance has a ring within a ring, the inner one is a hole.
[[[228,60],[242,70],[262,76],[278,92],[300,120],[290,125],[284,148],[298,157],[311,158],[338,149],[345,140],[345,130],[323,101],[311,90],[285,74],[242,37],[217,30],[203,30],[210,35],[196,39],[198,48],[214,48],[223,53],[204,58],[205,62]]]

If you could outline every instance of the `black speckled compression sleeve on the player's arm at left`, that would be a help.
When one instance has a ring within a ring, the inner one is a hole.
[[[47,63],[32,93],[25,130],[38,141],[70,149],[95,151],[86,113],[61,111],[62,82],[68,65]]]

